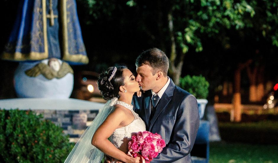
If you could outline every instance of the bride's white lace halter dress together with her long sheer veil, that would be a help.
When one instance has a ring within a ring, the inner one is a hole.
[[[92,124],[85,130],[80,137],[75,147],[70,152],[69,156],[65,160],[65,163],[100,163],[103,158],[103,152],[91,145],[93,134],[98,127],[104,122],[106,117],[114,111],[114,105],[122,105],[129,109],[134,116],[134,120],[121,128],[117,128],[110,136],[111,143],[114,144],[119,150],[127,153],[128,142],[131,140],[132,134],[139,131],[146,131],[145,122],[133,111],[133,106],[122,101],[118,101],[117,98],[109,100],[104,108],[100,110]],[[111,163],[115,163],[118,160],[114,160]]]

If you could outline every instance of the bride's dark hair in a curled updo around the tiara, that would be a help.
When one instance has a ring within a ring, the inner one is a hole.
[[[126,68],[126,66],[117,67],[117,71],[110,81],[108,79],[112,75],[114,67],[109,67],[99,75],[98,89],[105,100],[110,100],[114,97],[119,98],[119,88],[120,86],[125,85],[123,70]]]

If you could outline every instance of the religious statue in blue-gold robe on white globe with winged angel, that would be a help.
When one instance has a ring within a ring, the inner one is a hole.
[[[18,97],[70,97],[73,70],[68,64],[89,62],[75,0],[20,0],[1,59],[19,62],[14,74]]]

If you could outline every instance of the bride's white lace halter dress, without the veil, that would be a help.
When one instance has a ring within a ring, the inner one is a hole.
[[[122,101],[116,101],[114,105],[122,105],[125,108],[128,108],[131,113],[134,115],[134,120],[121,128],[116,129],[113,134],[110,136],[111,142],[116,146],[119,150],[127,153],[128,152],[128,142],[131,140],[131,136],[139,131],[146,131],[145,122],[138,116],[137,113],[133,111],[133,106]],[[114,160],[115,163],[118,160]]]

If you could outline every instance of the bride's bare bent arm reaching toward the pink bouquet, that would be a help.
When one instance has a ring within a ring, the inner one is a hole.
[[[101,126],[96,130],[92,138],[92,145],[101,150],[106,155],[113,158],[121,160],[127,163],[138,162],[139,157],[133,158],[127,156],[123,151],[116,148],[108,138],[110,135],[119,127],[121,123],[124,122],[124,117],[126,117],[124,111],[121,108],[116,108],[113,113],[111,113],[106,120],[101,124]]]

